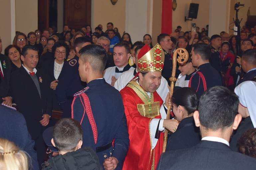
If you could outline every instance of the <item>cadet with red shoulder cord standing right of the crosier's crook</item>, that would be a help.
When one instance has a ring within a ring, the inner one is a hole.
[[[209,63],[211,49],[205,43],[196,43],[192,46],[192,64],[198,67],[191,76],[189,87],[196,90],[198,97],[213,86],[221,86],[221,77],[216,69]]]

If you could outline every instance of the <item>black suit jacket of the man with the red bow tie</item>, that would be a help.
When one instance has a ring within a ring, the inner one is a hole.
[[[23,66],[12,73],[10,80],[11,96],[18,106],[18,110],[24,115],[33,140],[41,132],[43,133],[44,127],[39,122],[43,119],[42,115],[51,115],[52,110],[50,85],[47,78],[39,69],[36,75],[40,85],[41,98],[34,81]]]

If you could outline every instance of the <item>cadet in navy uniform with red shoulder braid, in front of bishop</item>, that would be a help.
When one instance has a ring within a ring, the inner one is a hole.
[[[121,170],[129,135],[122,97],[103,79],[106,62],[107,53],[99,45],[80,50],[79,75],[87,87],[74,95],[72,118],[82,126],[83,147],[96,151],[104,169]]]

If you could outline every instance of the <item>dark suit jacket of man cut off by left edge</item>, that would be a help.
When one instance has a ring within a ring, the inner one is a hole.
[[[2,103],[2,98],[9,96],[9,83],[12,69],[10,60],[7,56],[0,54],[0,61],[4,73],[4,79],[0,76],[0,103]]]

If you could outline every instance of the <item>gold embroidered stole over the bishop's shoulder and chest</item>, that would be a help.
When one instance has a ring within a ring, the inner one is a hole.
[[[141,116],[155,118],[160,115],[160,102],[154,102],[154,95],[151,93],[151,98],[143,90],[143,88],[135,81],[132,80],[127,84],[128,87],[134,90],[144,104],[137,104],[137,109]]]

